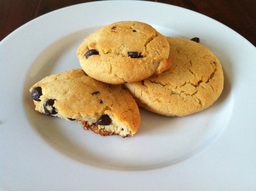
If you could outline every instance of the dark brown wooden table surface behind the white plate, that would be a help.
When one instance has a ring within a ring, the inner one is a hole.
[[[50,11],[91,1],[93,0],[0,0],[0,40],[23,24]],[[256,46],[255,0],[155,1],[187,8],[209,16],[238,32]]]

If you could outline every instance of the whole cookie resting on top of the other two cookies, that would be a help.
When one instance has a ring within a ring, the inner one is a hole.
[[[82,69],[109,84],[137,82],[169,70],[169,43],[148,24],[113,23],[84,39],[77,49]]]

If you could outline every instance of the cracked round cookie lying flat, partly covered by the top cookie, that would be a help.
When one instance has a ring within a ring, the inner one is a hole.
[[[166,116],[185,116],[213,104],[223,90],[216,56],[189,39],[167,37],[172,68],[146,80],[125,84],[139,106]]]

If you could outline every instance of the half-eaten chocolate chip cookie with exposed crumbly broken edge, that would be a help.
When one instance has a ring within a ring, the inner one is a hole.
[[[99,82],[81,69],[45,77],[30,92],[37,111],[78,121],[102,136],[133,136],[140,125],[138,106],[128,90]]]

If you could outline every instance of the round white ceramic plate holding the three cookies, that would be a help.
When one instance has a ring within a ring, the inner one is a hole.
[[[134,137],[101,137],[34,110],[29,88],[80,68],[76,48],[99,27],[148,23],[199,37],[219,58],[224,90],[208,109],[164,117],[141,109]],[[43,15],[0,42],[1,190],[250,190],[256,188],[256,49],[228,27],[161,3],[100,1]]]

